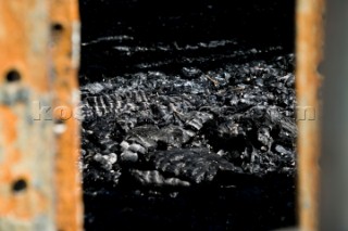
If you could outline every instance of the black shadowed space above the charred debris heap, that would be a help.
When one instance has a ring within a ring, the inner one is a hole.
[[[235,42],[239,49],[281,46],[279,53],[294,50],[295,1],[80,0],[80,15],[83,42],[95,41],[82,50],[82,73],[91,72],[89,78],[137,72],[144,62],[170,60],[171,67],[160,67],[172,70],[177,69],[172,66],[195,62],[183,57],[213,56],[221,62],[235,51]],[[210,41],[225,44],[184,49]],[[122,50],[127,46],[130,51]],[[213,64],[209,59],[204,66]]]

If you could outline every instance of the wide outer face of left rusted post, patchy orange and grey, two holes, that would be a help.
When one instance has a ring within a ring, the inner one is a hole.
[[[49,2],[0,0],[0,230],[54,230]]]

